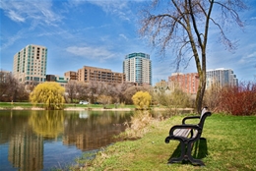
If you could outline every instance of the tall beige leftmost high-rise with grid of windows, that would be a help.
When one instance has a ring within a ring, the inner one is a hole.
[[[14,55],[13,75],[25,85],[45,82],[47,48],[29,44]]]

